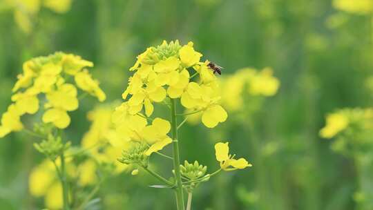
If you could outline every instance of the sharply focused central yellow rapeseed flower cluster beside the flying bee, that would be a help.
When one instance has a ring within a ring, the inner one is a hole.
[[[219,104],[217,77],[207,66],[209,61],[201,62],[201,57],[192,42],[180,46],[178,41],[164,41],[139,55],[130,68],[135,73],[128,79],[128,87],[122,94],[126,102],[117,106],[113,113],[117,133],[117,142],[112,142],[113,145],[145,142],[149,149],[144,154],[151,155],[171,144],[167,135],[171,130],[168,120],[155,117],[151,124],[148,122],[154,104],[168,103],[169,99],[180,99],[189,111],[202,113],[202,122],[209,128],[224,122],[227,112]]]

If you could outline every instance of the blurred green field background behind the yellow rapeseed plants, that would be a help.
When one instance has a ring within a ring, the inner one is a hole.
[[[32,57],[61,50],[93,61],[91,73],[113,102],[146,47],[164,39],[193,41],[204,59],[224,67],[223,75],[270,66],[280,80],[277,95],[245,120],[229,115],[215,131],[182,129],[182,160],[198,160],[212,171],[218,167],[213,144],[229,140],[232,151],[254,164],[202,184],[193,209],[367,209],[354,200],[362,177],[354,162],[334,153],[333,140],[318,132],[336,108],[371,106],[365,79],[373,69],[372,10],[338,10],[325,0],[73,0],[63,12],[41,3],[29,26],[20,26],[15,13],[23,1],[0,2],[1,113],[23,62]],[[86,99],[72,113],[68,136],[74,144],[87,131],[86,113],[95,103]],[[26,135],[0,140],[0,209],[43,208],[42,200],[28,193],[28,174],[42,158]],[[159,166],[161,173],[170,168]],[[372,169],[365,173],[373,179]],[[108,179],[98,208],[173,209],[173,193],[147,187],[151,184],[145,174]]]

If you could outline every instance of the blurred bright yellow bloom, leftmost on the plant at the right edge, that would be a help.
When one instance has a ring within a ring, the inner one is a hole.
[[[326,125],[321,129],[320,135],[325,138],[332,138],[347,128],[349,120],[343,113],[332,113],[327,115]]]

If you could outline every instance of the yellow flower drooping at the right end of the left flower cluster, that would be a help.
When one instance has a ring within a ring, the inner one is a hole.
[[[99,99],[99,102],[103,102],[106,99],[104,91],[99,88],[99,82],[92,79],[92,76],[88,73],[88,70],[83,70],[75,75],[75,82],[77,86],[82,90],[88,92]]]

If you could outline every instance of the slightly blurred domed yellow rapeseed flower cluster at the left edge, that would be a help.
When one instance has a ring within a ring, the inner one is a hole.
[[[104,101],[105,93],[85,69],[92,66],[90,61],[65,53],[26,61],[23,73],[18,75],[18,81],[12,88],[12,104],[1,117],[0,137],[22,130],[21,116],[37,113],[42,95],[47,101],[42,121],[57,128],[66,128],[70,124],[68,112],[75,111],[79,106],[77,88],[97,97],[100,102]],[[70,80],[75,80],[75,84]]]

